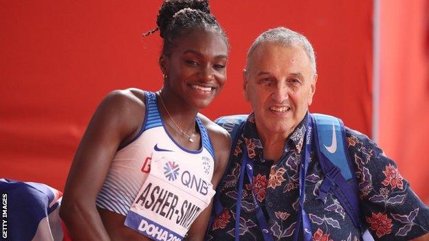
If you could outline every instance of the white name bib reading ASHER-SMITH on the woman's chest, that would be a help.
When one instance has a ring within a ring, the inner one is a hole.
[[[209,204],[211,178],[184,153],[153,152],[151,172],[138,192],[124,225],[153,240],[182,240]]]

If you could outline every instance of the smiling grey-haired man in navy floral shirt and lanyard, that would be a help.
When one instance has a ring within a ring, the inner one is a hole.
[[[208,240],[410,240],[428,233],[428,207],[368,137],[343,130],[340,168],[318,154],[316,115],[308,113],[316,60],[305,36],[285,27],[261,34],[243,79],[253,113],[234,134]],[[230,127],[236,117],[223,123]],[[341,145],[332,137],[325,148]]]

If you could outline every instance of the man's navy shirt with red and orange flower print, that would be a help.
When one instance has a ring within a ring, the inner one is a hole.
[[[263,159],[253,113],[234,144],[230,165],[217,189],[223,211],[208,227],[206,240],[234,240],[237,186],[243,148],[254,159],[253,183],[244,179],[241,200],[240,240],[263,240],[256,219],[252,192],[263,209],[274,240],[292,240],[299,208],[299,166],[303,154],[307,115],[285,144],[279,161]],[[409,240],[429,232],[429,209],[410,189],[395,163],[365,135],[346,128],[347,146],[359,185],[361,220],[375,240]],[[336,196],[316,200],[324,179],[317,156],[311,153],[306,176],[304,208],[313,240],[360,240]]]

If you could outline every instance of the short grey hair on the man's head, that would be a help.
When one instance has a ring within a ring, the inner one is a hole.
[[[272,28],[270,30],[263,32],[261,35],[258,36],[258,38],[256,38],[256,40],[253,42],[252,46],[248,51],[248,58],[246,60],[246,69],[248,68],[248,65],[249,65],[250,56],[252,56],[256,47],[258,47],[258,45],[260,45],[261,43],[265,43],[265,42],[278,43],[285,47],[300,45],[301,47],[303,47],[305,53],[309,57],[311,69],[313,69],[314,73],[317,73],[316,72],[316,55],[314,54],[314,49],[313,49],[313,46],[311,46],[311,43],[303,34],[299,34],[298,32],[289,30],[286,27]]]

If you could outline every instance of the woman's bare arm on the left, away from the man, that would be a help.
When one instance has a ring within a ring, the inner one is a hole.
[[[142,108],[144,102],[131,91],[113,91],[91,118],[76,150],[60,209],[73,240],[109,240],[96,197],[118,146],[142,123]]]

